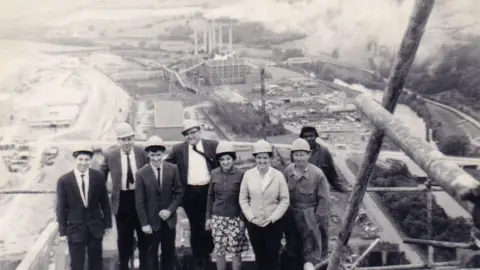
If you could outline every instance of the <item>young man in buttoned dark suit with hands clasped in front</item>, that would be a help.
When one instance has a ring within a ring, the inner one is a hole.
[[[157,136],[148,139],[145,151],[150,163],[136,173],[135,201],[142,230],[148,240],[147,269],[158,270],[158,247],[161,244],[161,268],[175,266],[175,227],[177,208],[184,188],[176,165],[163,162],[165,144]]]

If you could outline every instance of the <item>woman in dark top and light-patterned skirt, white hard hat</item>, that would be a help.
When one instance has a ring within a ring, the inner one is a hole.
[[[211,172],[205,226],[212,230],[217,269],[227,268],[225,255],[231,254],[233,270],[240,270],[241,254],[249,248],[238,201],[243,171],[233,166],[236,153],[231,143],[220,142],[215,157],[220,167]]]

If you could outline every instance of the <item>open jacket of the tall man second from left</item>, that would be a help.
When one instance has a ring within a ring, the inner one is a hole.
[[[120,190],[122,188],[122,160],[121,149],[119,146],[105,153],[105,159],[100,165],[100,170],[105,175],[105,181],[108,177],[108,173],[112,177],[112,211],[113,214],[117,214],[118,205],[120,204]],[[148,163],[148,157],[145,154],[145,150],[140,146],[133,146],[135,153],[135,161],[137,163],[137,171]]]

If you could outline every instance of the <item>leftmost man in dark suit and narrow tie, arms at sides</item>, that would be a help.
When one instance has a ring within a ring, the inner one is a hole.
[[[88,269],[101,270],[102,240],[112,227],[112,213],[103,173],[89,169],[91,147],[73,151],[76,167],[57,182],[57,221],[60,239],[68,240],[70,269],[83,270],[85,249]]]

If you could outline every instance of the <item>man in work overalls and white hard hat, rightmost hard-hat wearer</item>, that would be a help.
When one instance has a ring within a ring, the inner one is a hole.
[[[285,169],[290,193],[285,237],[291,256],[286,269],[315,269],[328,254],[328,220],[330,186],[323,171],[309,162],[308,141],[296,139],[292,144],[292,163]]]

